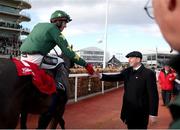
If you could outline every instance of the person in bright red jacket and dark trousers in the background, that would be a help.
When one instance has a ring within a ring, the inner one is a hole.
[[[167,65],[163,67],[158,76],[159,86],[162,90],[163,105],[167,106],[171,100],[174,87],[175,72]]]

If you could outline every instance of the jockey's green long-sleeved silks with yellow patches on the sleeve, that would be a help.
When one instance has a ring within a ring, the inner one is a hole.
[[[39,23],[34,26],[32,32],[21,45],[20,50],[21,52],[40,52],[46,55],[56,45],[76,64],[86,65],[86,62],[71,49],[65,37],[53,23]]]

